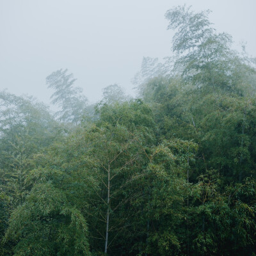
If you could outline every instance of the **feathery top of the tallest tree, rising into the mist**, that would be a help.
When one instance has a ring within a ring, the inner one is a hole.
[[[213,91],[236,91],[243,72],[251,67],[245,65],[237,52],[230,50],[232,37],[216,33],[209,22],[209,10],[194,13],[190,7],[177,6],[166,12],[170,21],[168,29],[176,29],[172,49],[177,54],[176,68],[182,76],[198,87],[208,86]],[[237,70],[239,73],[237,79]],[[238,80],[238,81],[237,81]],[[237,83],[238,82],[238,83]]]

